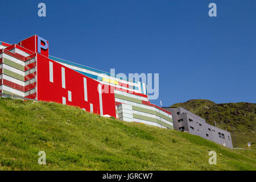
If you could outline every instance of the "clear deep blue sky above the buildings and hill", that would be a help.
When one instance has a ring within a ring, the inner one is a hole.
[[[38,3],[47,6],[39,18]],[[217,17],[208,5],[217,4]],[[49,53],[116,73],[159,73],[164,106],[256,102],[256,1],[1,1],[0,40],[38,34]]]

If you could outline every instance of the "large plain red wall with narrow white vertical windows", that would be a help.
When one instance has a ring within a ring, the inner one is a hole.
[[[53,63],[53,82],[49,81],[49,61]],[[90,111],[93,104],[94,113],[100,114],[100,99],[97,91],[99,82],[73,71],[45,56],[37,54],[38,100],[62,104],[62,97],[67,105],[79,106]],[[65,68],[65,89],[61,84],[61,67]],[[88,102],[84,101],[84,77],[87,80]],[[104,85],[105,86],[105,85]],[[104,86],[102,86],[104,88]],[[68,90],[72,92],[72,101],[68,101]],[[102,94],[103,114],[115,117],[115,100],[113,93]]]

